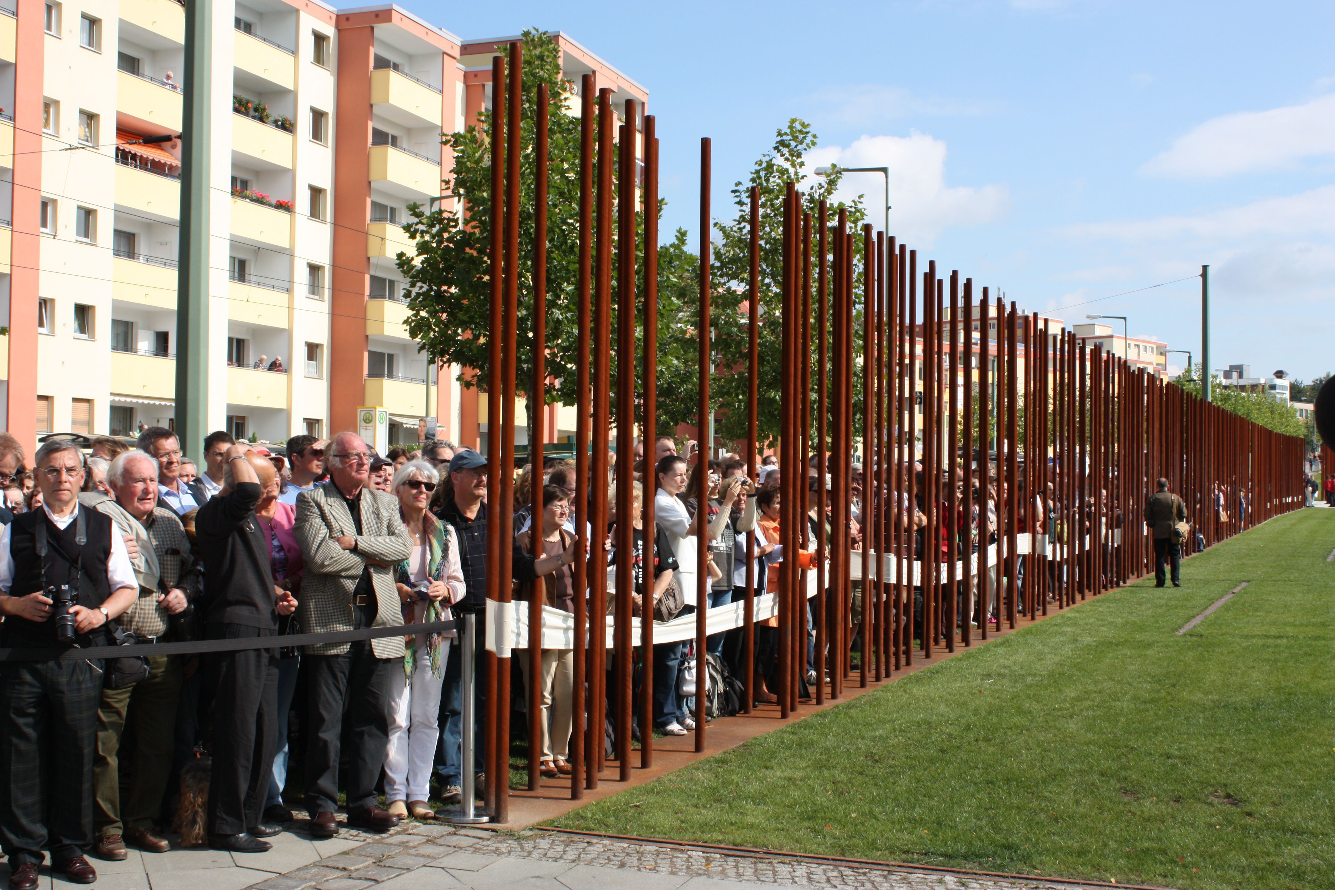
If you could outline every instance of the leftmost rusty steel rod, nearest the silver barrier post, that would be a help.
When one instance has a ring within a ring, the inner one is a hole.
[[[499,423],[497,415],[501,411],[501,391],[503,388],[501,380],[505,371],[503,363],[503,346],[505,336],[502,327],[505,326],[505,56],[495,55],[491,57],[491,205],[489,209],[487,224],[490,227],[490,252],[489,252],[489,296],[490,296],[490,318],[487,327],[487,464],[490,466],[490,479],[487,488],[493,490],[491,486],[499,486],[501,468],[505,466],[502,463],[501,454],[501,436]],[[501,542],[505,540],[505,535],[509,532],[505,527],[505,511],[503,510],[489,510],[487,511],[487,540]],[[501,551],[503,547],[487,547],[487,599],[491,602],[501,602]],[[485,636],[485,634],[483,634]],[[498,674],[497,670],[497,655],[493,651],[487,651],[485,658],[486,664],[486,682],[483,685],[485,702],[483,702],[483,715],[485,715],[485,730],[483,730],[483,769],[487,775],[498,775],[499,770],[495,761],[497,749],[497,718],[501,713],[497,702],[497,683]],[[467,763],[463,766],[465,770],[475,769],[475,763]],[[487,809],[495,807],[495,782],[487,782],[485,785],[485,805]]]

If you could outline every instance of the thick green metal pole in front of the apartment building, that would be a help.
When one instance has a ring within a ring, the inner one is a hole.
[[[176,248],[176,436],[196,460],[208,423],[208,201],[212,0],[186,3],[180,242]],[[203,466],[203,464],[200,464]]]

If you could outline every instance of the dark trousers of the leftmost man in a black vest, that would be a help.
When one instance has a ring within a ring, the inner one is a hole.
[[[83,855],[92,843],[92,755],[101,662],[0,670],[0,849],[9,867]]]

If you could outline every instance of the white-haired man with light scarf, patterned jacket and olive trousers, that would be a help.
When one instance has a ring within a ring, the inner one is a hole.
[[[117,455],[107,468],[113,498],[100,491],[80,503],[105,514],[129,538],[129,559],[139,579],[139,598],[117,622],[142,644],[194,639],[187,622],[192,600],[203,592],[190,539],[176,514],[158,504],[158,462],[143,451]],[[148,652],[152,648],[147,650]],[[95,851],[103,859],[127,855],[125,841],[148,853],[171,849],[154,831],[172,766],[182,656],[148,655],[148,677],[124,689],[105,689],[97,709],[97,753],[93,758]],[[120,799],[117,751],[125,723],[135,725],[128,795]]]

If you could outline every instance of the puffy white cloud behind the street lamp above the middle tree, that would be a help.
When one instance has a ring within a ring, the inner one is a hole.
[[[890,234],[909,247],[929,248],[951,226],[991,223],[1005,209],[1005,185],[967,187],[945,184],[945,143],[912,131],[908,136],[862,136],[852,145],[828,145],[806,156],[808,169],[826,164],[841,167],[890,168]],[[870,221],[880,228],[881,177],[874,173],[848,173],[837,199],[866,196]]]

